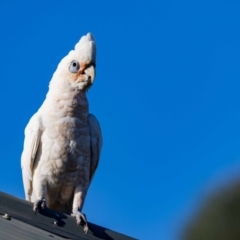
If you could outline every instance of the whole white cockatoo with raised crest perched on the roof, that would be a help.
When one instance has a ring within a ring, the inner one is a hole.
[[[26,126],[21,158],[25,197],[33,210],[47,206],[71,213],[85,233],[81,211],[102,147],[101,129],[88,113],[86,98],[95,62],[95,41],[88,33],[53,74],[45,101]]]

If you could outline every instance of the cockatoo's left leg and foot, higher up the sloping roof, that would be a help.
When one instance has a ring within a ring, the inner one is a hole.
[[[46,183],[43,184],[41,182],[34,181],[33,189],[36,196],[36,200],[33,203],[33,211],[36,214],[37,211],[44,210],[46,207],[47,186]]]

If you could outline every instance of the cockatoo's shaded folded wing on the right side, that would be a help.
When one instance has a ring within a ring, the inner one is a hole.
[[[103,141],[100,125],[94,115],[92,114],[88,115],[88,124],[91,139],[91,168],[90,168],[90,183],[91,183],[99,163]]]

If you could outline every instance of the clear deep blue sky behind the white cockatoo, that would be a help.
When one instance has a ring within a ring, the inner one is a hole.
[[[24,128],[90,31],[88,97],[104,147],[84,212],[136,238],[173,240],[209,186],[240,169],[239,12],[237,0],[0,0],[0,191],[24,197]]]

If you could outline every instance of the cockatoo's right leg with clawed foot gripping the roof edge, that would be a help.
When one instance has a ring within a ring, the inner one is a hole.
[[[86,188],[87,189],[87,188]],[[88,223],[85,214],[81,212],[84,199],[86,196],[86,190],[83,190],[81,187],[77,187],[74,191],[73,197],[73,208],[72,208],[72,216],[76,218],[77,225],[83,226],[83,231],[85,234],[88,232]]]

